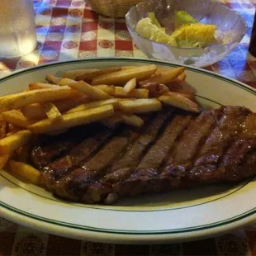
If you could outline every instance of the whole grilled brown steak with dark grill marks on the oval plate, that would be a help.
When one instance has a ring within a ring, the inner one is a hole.
[[[167,108],[141,128],[80,126],[39,139],[31,162],[56,196],[86,203],[235,183],[256,174],[256,114]]]

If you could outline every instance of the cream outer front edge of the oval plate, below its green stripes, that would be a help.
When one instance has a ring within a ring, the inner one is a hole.
[[[93,230],[76,230],[72,227],[63,227],[53,223],[47,223],[43,220],[36,220],[27,216],[22,216],[12,210],[0,208],[2,217],[7,220],[11,220],[20,225],[25,225],[34,230],[40,230],[48,234],[54,234],[73,239],[86,239],[88,241],[100,242],[100,243],[114,243],[114,244],[166,244],[166,243],[180,243],[187,242],[197,239],[206,239],[215,237],[216,235],[222,235],[232,230],[240,228],[242,225],[250,225],[254,223],[256,214],[251,216],[245,216],[243,219],[236,220],[228,225],[220,225],[205,230],[188,231],[187,233],[176,233],[176,234],[116,234],[116,233],[105,233]],[[224,228],[223,228],[224,226]],[[184,235],[185,234],[185,235]]]

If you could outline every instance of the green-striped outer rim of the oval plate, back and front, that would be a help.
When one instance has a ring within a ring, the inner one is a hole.
[[[188,65],[182,65],[182,64],[174,64],[174,63],[168,63],[168,62],[164,62],[164,61],[159,61],[159,60],[155,60],[155,59],[145,59],[145,58],[115,58],[115,57],[105,57],[105,58],[86,58],[86,59],[73,59],[73,60],[67,60],[67,61],[55,61],[55,62],[51,62],[49,64],[40,64],[40,65],[36,65],[34,67],[28,68],[28,69],[21,69],[21,70],[17,70],[15,72],[12,72],[10,74],[7,74],[6,76],[0,78],[0,86],[1,83],[12,79],[16,76],[19,76],[23,73],[30,73],[30,72],[34,72],[35,70],[38,69],[47,69],[51,66],[55,67],[55,66],[61,66],[61,65],[66,65],[66,64],[76,64],[76,63],[83,63],[83,62],[91,62],[91,63],[100,63],[101,61],[109,61],[112,60],[113,62],[127,62],[127,63],[132,63],[132,62],[140,62],[140,63],[150,63],[150,64],[159,64],[159,65],[166,65],[169,67],[179,67],[179,66],[184,66],[187,70],[191,70],[192,72],[196,72],[196,73],[203,73],[206,75],[210,75],[212,77],[215,78],[219,78],[221,80],[225,80],[225,82],[227,83],[232,83],[232,85],[238,86],[239,88],[242,88],[244,90],[246,90],[247,92],[251,92],[253,94],[256,94],[256,89],[249,87],[248,85],[246,85],[245,83],[241,83],[233,78],[228,78],[224,75],[221,75],[219,73],[215,73],[209,70],[205,70],[205,69],[200,69],[200,68],[196,68],[196,67],[192,67],[192,66],[188,66]],[[206,227],[206,228],[199,228],[197,229],[192,229],[192,230],[184,230],[184,231],[177,231],[177,232],[163,232],[163,230],[159,230],[159,232],[157,233],[149,233],[149,232],[145,232],[145,233],[140,233],[140,232],[135,232],[135,233],[129,233],[129,232],[112,232],[112,231],[101,231],[101,230],[79,230],[79,232],[77,232],[77,229],[69,226],[69,225],[61,225],[58,223],[54,223],[54,222],[58,222],[58,221],[53,221],[52,223],[48,220],[44,220],[44,218],[37,216],[39,218],[35,218],[33,216],[31,216],[31,213],[29,212],[25,212],[26,214],[22,214],[19,213],[18,211],[15,211],[13,209],[10,208],[14,208],[12,206],[8,207],[8,206],[3,206],[2,201],[0,201],[0,212],[2,214],[2,216],[4,216],[5,218],[12,220],[14,222],[18,222],[21,225],[28,225],[31,226],[32,228],[38,228],[40,230],[45,230],[46,232],[49,233],[54,233],[56,235],[64,235],[64,236],[69,236],[72,235],[72,237],[78,237],[80,239],[83,239],[84,235],[86,234],[90,234],[88,235],[88,239],[92,239],[92,240],[98,240],[98,241],[111,241],[111,242],[118,242],[118,240],[122,239],[122,243],[136,243],[136,241],[140,241],[140,243],[144,243],[144,242],[157,242],[159,241],[159,237],[162,237],[162,241],[178,241],[178,240],[183,240],[183,239],[199,239],[201,237],[206,237],[206,236],[211,236],[211,235],[216,235],[216,234],[220,234],[221,232],[226,232],[228,230],[233,230],[241,225],[247,225],[251,222],[253,222],[256,219],[256,207],[251,209],[250,211],[246,211],[243,214],[240,214],[239,216],[235,216],[231,219],[235,219],[235,220],[223,220],[223,221],[219,221],[221,222],[221,224],[216,224],[213,226],[211,226],[210,228]],[[7,204],[6,204],[7,205]],[[241,217],[240,217],[241,216]],[[31,219],[32,222],[36,222],[36,226],[31,224]],[[41,219],[41,220],[40,220]],[[224,222],[224,223],[222,223]],[[49,227],[53,227],[49,228]],[[224,227],[224,228],[223,228]],[[65,231],[67,231],[67,234],[65,234],[66,232],[64,232],[64,230],[62,229],[66,229]],[[58,231],[59,230],[59,231]],[[61,230],[61,232],[60,232]],[[209,231],[210,230],[210,231]],[[83,234],[80,234],[80,233]],[[64,234],[63,234],[64,233]],[[79,233],[79,234],[78,234]],[[101,234],[102,239],[101,238],[97,238],[97,235],[93,235],[91,233],[95,233],[95,234]],[[103,234],[103,235],[102,235]],[[186,234],[185,236],[183,234]],[[120,237],[120,235],[122,236],[122,238]],[[154,235],[155,237],[153,237],[152,235]],[[124,240],[126,238],[126,240]]]

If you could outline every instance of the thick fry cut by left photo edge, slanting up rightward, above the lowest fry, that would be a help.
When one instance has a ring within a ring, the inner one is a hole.
[[[11,154],[22,145],[26,145],[31,140],[29,130],[20,130],[17,133],[0,140],[0,154]]]

